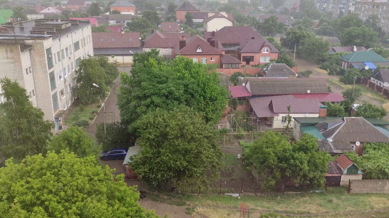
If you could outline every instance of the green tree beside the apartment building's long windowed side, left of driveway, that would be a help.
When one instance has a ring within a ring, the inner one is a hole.
[[[109,88],[105,85],[107,75],[96,59],[82,59],[75,75],[76,84],[73,90],[83,104],[90,104],[99,98],[107,97],[109,91]],[[98,87],[95,87],[93,83]]]

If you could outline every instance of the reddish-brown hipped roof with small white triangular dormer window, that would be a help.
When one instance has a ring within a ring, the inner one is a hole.
[[[202,52],[197,52],[198,47],[201,48]],[[186,40],[186,46],[179,50],[177,54],[181,55],[221,55],[221,51],[217,48],[212,47],[207,40],[199,35],[194,35]]]

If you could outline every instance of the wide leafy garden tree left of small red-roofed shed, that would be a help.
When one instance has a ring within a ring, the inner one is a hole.
[[[286,135],[274,131],[266,131],[244,157],[255,168],[265,190],[284,189],[288,182],[301,188],[322,187],[331,160],[328,153],[319,151],[313,135],[304,133],[291,145]]]

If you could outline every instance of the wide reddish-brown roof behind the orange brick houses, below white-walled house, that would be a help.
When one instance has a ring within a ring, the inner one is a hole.
[[[255,39],[262,37],[249,26],[225,26],[216,32],[206,32],[204,38],[214,38],[224,43],[241,43],[251,40],[251,36]]]

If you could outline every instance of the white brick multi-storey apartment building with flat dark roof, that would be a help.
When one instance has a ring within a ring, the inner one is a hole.
[[[0,78],[25,87],[44,119],[56,121],[58,129],[60,112],[74,102],[75,69],[81,59],[93,56],[90,22],[38,19],[3,27],[8,32],[0,31]]]

